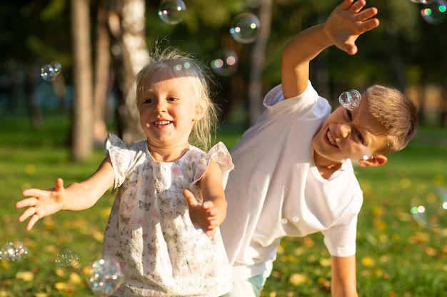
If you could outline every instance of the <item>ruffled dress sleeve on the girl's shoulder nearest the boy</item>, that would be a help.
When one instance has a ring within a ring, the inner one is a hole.
[[[228,180],[228,174],[231,170],[233,170],[234,165],[233,161],[231,160],[230,152],[228,152],[228,149],[223,142],[218,142],[216,145],[214,145],[214,147],[211,147],[211,150],[209,150],[206,157],[200,160],[196,170],[196,174],[194,175],[194,182],[192,184],[196,184],[204,176],[209,166],[209,160],[211,159],[213,159],[214,162],[216,162],[221,168],[222,186],[225,189],[226,182]]]

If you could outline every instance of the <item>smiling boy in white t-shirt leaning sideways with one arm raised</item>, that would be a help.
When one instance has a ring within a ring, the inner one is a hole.
[[[232,265],[233,291],[259,296],[284,236],[318,231],[331,254],[334,297],[356,291],[356,225],[363,194],[351,160],[379,166],[416,131],[416,108],[398,90],[374,85],[358,107],[338,107],[313,89],[309,61],[329,46],[357,52],[356,39],[378,26],[376,8],[344,0],[324,24],[283,48],[282,84],[264,99],[266,111],[233,148],[221,232]],[[365,152],[368,157],[364,158]]]

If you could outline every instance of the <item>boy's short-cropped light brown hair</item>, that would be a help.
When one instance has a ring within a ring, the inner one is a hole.
[[[416,105],[405,94],[383,85],[372,85],[363,93],[369,112],[386,130],[387,143],[376,153],[388,155],[402,150],[416,134]]]

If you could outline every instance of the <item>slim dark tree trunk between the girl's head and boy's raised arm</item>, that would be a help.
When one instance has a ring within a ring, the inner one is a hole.
[[[253,46],[251,53],[250,87],[248,100],[250,125],[256,122],[262,113],[262,71],[266,57],[266,46],[271,30],[271,6],[272,0],[261,0],[259,9],[259,21],[261,22],[261,32]]]

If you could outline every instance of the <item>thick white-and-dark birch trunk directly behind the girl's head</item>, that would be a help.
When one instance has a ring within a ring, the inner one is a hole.
[[[145,139],[136,108],[136,74],[146,65],[148,51],[145,41],[146,4],[144,0],[118,0],[115,14],[109,15],[109,27],[116,43],[112,46],[119,88],[119,130],[124,142]],[[120,120],[121,119],[121,120]]]

